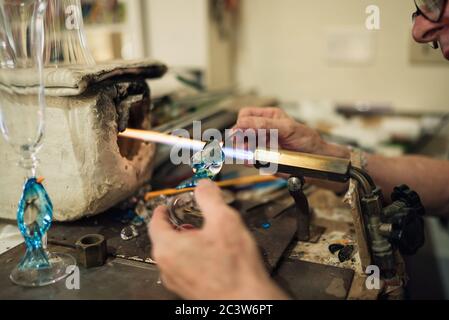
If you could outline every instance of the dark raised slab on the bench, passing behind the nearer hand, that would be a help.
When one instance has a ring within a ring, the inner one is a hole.
[[[287,195],[288,196],[288,195]],[[293,200],[276,199],[259,206],[249,202],[236,202],[242,216],[259,244],[269,270],[273,270],[282,254],[291,243],[295,233],[295,211]],[[257,210],[251,210],[257,206]],[[246,212],[248,211],[248,212]],[[126,216],[126,212],[125,212]],[[269,228],[263,225],[269,224]],[[53,245],[75,248],[78,239],[87,234],[102,234],[107,239],[108,254],[127,260],[153,263],[150,256],[151,243],[146,225],[137,226],[138,236],[123,240],[121,230],[129,225],[120,210],[113,209],[105,214],[71,223],[55,223],[49,231],[48,242]]]

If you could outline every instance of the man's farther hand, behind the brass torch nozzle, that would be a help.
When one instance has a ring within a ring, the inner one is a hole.
[[[278,129],[282,149],[323,156],[349,158],[343,146],[327,143],[317,131],[300,124],[279,108],[248,107],[240,111],[236,129]]]

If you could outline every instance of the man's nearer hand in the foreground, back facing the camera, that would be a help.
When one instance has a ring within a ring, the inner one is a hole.
[[[149,224],[161,279],[186,299],[286,299],[267,274],[257,245],[220,189],[201,181],[195,197],[205,217],[201,230],[176,231],[167,209],[155,210]]]

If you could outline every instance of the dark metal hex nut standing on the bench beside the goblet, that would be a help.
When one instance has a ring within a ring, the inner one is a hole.
[[[88,234],[75,243],[78,264],[85,268],[101,267],[108,257],[106,239],[101,234]]]

